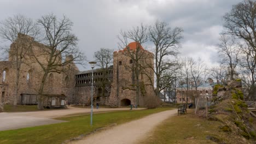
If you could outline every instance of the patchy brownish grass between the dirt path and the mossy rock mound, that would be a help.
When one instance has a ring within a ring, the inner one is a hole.
[[[142,144],[165,144],[165,143],[216,143],[206,140],[206,136],[214,136],[225,143],[236,143],[229,139],[229,134],[221,131],[218,127],[222,123],[217,121],[206,121],[195,117],[191,111],[186,115],[179,115],[168,118],[158,126],[148,139],[139,143]]]

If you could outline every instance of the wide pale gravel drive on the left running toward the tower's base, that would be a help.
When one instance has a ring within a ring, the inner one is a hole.
[[[94,112],[107,112],[129,110],[128,108],[100,108],[94,109]],[[141,110],[141,109],[137,109]],[[61,123],[56,117],[67,115],[77,115],[81,113],[90,113],[91,109],[83,109],[77,107],[68,107],[68,109],[49,110],[49,111],[34,111],[34,112],[0,112],[0,131],[10,129],[20,129],[26,127],[34,127],[37,125]]]

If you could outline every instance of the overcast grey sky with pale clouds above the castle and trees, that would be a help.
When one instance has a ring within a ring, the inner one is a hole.
[[[218,62],[216,44],[223,15],[242,0],[0,0],[0,21],[14,14],[36,20],[63,14],[74,22],[79,48],[89,61],[101,47],[118,50],[120,30],[152,25],[156,20],[182,27],[181,56],[201,57],[208,65]],[[149,47],[150,48],[150,47]],[[79,67],[80,70],[85,68]],[[88,68],[88,67],[87,67]]]

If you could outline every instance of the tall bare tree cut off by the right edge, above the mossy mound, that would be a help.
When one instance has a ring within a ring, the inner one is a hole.
[[[233,5],[231,11],[224,15],[224,34],[234,35],[235,37],[245,41],[250,47],[247,53],[256,52],[256,1],[245,0]],[[244,51],[244,50],[243,50]],[[253,54],[252,54],[253,55]],[[253,59],[251,54],[249,59]],[[253,61],[251,61],[253,62]],[[254,65],[254,64],[252,64]],[[249,65],[247,65],[250,67]],[[255,74],[255,73],[252,73]],[[254,75],[252,77],[255,77]],[[251,78],[252,78],[251,77]],[[255,86],[251,85],[249,95],[256,99],[254,94]]]

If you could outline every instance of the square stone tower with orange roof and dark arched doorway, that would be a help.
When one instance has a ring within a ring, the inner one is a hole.
[[[146,99],[154,95],[154,71],[151,69],[154,67],[153,53],[133,42],[125,49],[114,52],[113,82],[109,96],[111,106],[136,105],[135,55],[139,57],[137,63],[140,65],[138,105],[145,105]]]

